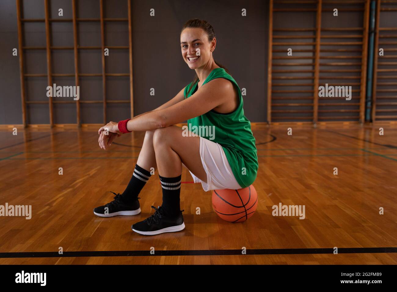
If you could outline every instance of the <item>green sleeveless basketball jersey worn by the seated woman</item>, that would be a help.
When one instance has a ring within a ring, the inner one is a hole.
[[[210,110],[201,116],[189,119],[187,121],[188,129],[222,146],[237,182],[241,188],[246,188],[251,186],[258,172],[258,156],[255,138],[251,131],[251,122],[244,116],[243,97],[239,85],[225,69],[215,68],[212,70],[202,85],[216,78],[225,78],[235,85],[239,94],[239,106],[229,114]],[[198,81],[190,92],[187,92],[190,85],[191,83],[185,87],[185,99],[197,91]],[[207,129],[206,131],[196,132],[197,129],[204,129],[204,127]],[[208,131],[208,128],[214,129],[214,133],[211,130]]]

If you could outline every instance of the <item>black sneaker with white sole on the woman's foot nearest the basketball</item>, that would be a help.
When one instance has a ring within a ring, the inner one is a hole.
[[[182,212],[174,218],[167,217],[162,211],[162,207],[158,206],[158,209],[154,206],[156,212],[149,218],[135,223],[131,226],[131,229],[139,234],[143,235],[155,235],[164,232],[176,232],[185,229],[185,223],[183,222]]]

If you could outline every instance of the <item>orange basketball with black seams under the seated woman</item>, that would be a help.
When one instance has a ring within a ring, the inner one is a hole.
[[[253,185],[239,190],[214,190],[212,207],[216,214],[229,222],[243,222],[254,215],[258,194]]]

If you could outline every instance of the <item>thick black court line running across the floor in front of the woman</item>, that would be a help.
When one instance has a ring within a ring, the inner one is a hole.
[[[247,255],[296,255],[324,254],[334,252],[333,248],[275,248],[247,249]],[[397,248],[338,248],[339,253],[397,253]],[[175,256],[175,255],[242,255],[242,249],[214,250],[129,250],[129,251],[58,251],[43,252],[3,252],[0,258],[33,258],[33,257],[139,257],[139,256]]]

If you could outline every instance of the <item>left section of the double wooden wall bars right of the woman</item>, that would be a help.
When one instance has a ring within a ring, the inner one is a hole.
[[[321,1],[273,0],[269,7],[268,122],[313,122]],[[310,19],[310,21],[306,21]],[[292,55],[288,53],[292,49]]]

